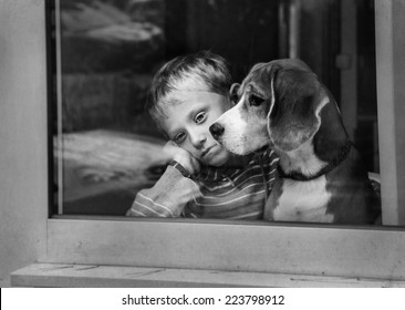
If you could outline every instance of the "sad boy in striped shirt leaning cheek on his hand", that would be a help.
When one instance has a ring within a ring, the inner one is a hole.
[[[210,52],[176,58],[156,73],[147,110],[173,161],[127,216],[262,219],[278,158],[270,149],[233,155],[209,133],[232,105],[230,86],[226,61]]]

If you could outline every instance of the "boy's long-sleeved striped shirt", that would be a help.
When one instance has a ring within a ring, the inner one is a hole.
[[[262,219],[278,157],[272,151],[243,156],[239,167],[202,167],[187,178],[168,166],[149,189],[139,190],[127,216]]]

